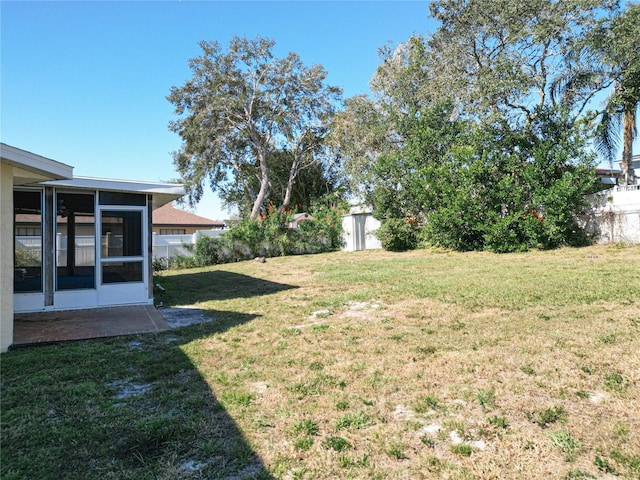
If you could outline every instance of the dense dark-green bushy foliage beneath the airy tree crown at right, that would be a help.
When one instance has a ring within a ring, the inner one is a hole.
[[[406,120],[405,151],[378,161],[372,201],[385,248],[502,253],[588,242],[576,214],[595,181],[592,156],[562,110],[541,109],[525,128],[468,124],[464,133],[448,115],[438,107]]]

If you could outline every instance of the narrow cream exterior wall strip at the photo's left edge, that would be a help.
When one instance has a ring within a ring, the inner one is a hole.
[[[0,352],[13,343],[13,167],[0,163]]]

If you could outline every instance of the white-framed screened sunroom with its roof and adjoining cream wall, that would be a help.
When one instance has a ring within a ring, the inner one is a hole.
[[[2,298],[11,288],[13,303],[2,308],[3,347],[14,312],[153,304],[152,212],[182,185],[73,177],[4,144],[2,164]]]

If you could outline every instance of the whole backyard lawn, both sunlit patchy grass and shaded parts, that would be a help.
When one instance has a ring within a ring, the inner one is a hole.
[[[3,479],[640,478],[640,247],[157,281],[213,321],[0,357]]]

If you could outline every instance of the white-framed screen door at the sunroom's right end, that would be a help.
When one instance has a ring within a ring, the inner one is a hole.
[[[148,298],[146,209],[100,209],[100,305],[141,303]]]

